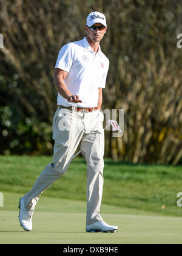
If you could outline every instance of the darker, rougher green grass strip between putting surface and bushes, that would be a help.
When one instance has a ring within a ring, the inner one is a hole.
[[[25,194],[51,157],[0,156],[0,191]],[[68,171],[45,196],[86,201],[86,163],[75,158]],[[103,203],[160,215],[182,216],[177,193],[182,191],[182,167],[132,165],[105,160]]]

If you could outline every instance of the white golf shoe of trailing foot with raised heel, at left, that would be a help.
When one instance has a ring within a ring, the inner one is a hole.
[[[31,231],[32,230],[32,216],[33,216],[33,210],[27,210],[24,206],[24,199],[21,197],[19,199],[19,222],[20,225],[24,228],[25,231]]]

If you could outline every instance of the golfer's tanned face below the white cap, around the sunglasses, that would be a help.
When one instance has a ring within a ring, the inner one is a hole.
[[[103,26],[103,24],[101,23],[95,23],[93,24],[94,26]],[[86,28],[86,34],[87,37],[90,38],[90,40],[93,43],[99,42],[103,39],[104,34],[106,33],[107,27],[105,27],[103,30],[99,30],[98,28],[94,31],[92,31],[91,29],[89,29],[89,27],[85,27]]]

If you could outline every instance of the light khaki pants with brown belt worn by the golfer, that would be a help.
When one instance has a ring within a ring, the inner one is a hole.
[[[41,193],[67,171],[76,149],[80,146],[87,162],[86,225],[102,219],[99,208],[103,194],[103,118],[103,113],[98,110],[83,113],[58,107],[53,118],[53,160],[41,172],[32,190],[25,194],[27,209],[33,210]]]

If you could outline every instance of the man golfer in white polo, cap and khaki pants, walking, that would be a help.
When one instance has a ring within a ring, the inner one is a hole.
[[[115,232],[100,215],[103,193],[104,129],[102,89],[109,60],[99,46],[107,30],[103,13],[92,12],[86,20],[86,37],[67,43],[59,51],[53,84],[58,90],[58,109],[53,117],[53,160],[29,193],[19,200],[19,222],[32,230],[32,216],[41,193],[68,169],[76,149],[87,162],[87,232]],[[76,182],[76,180],[75,180]]]

